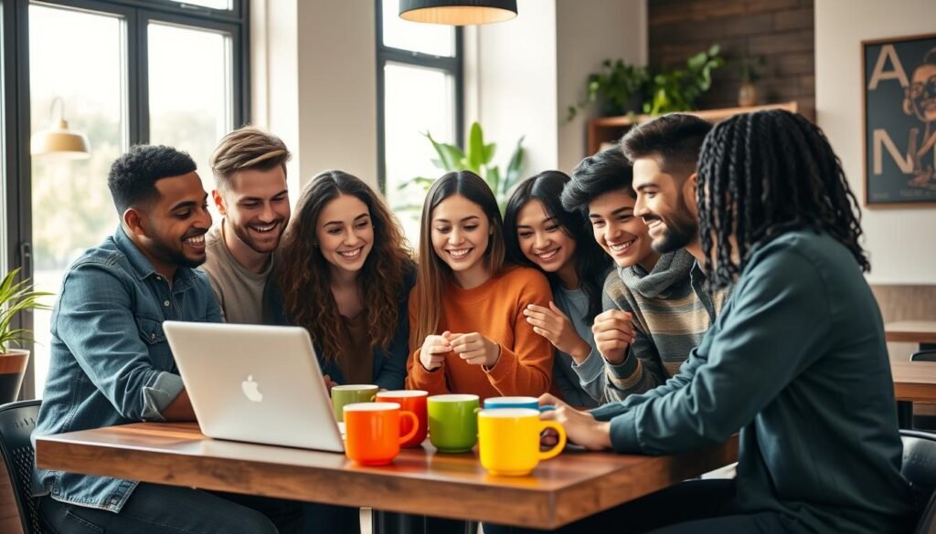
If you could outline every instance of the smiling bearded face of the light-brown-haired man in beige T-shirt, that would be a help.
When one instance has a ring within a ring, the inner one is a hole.
[[[235,172],[212,193],[218,211],[241,242],[256,253],[272,253],[289,222],[289,192],[282,166]]]

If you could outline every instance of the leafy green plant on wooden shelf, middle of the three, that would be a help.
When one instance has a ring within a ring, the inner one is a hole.
[[[662,115],[695,109],[698,97],[711,88],[711,71],[724,65],[718,45],[700,51],[686,60],[686,68],[664,70],[651,81],[651,99],[644,112]]]

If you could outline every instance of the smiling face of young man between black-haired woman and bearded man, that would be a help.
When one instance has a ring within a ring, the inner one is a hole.
[[[659,254],[651,249],[647,224],[634,216],[636,200],[626,190],[611,191],[589,202],[588,218],[594,240],[618,267],[640,265],[648,271]]]

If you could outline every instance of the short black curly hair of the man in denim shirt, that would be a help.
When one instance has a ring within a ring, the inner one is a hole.
[[[114,207],[123,215],[159,198],[156,180],[195,171],[195,161],[185,152],[165,145],[137,145],[110,165],[108,187]]]

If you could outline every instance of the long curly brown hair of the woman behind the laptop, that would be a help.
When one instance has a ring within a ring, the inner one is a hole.
[[[357,277],[360,293],[365,296],[362,313],[372,348],[388,349],[401,319],[401,298],[409,290],[405,280],[415,268],[396,217],[364,181],[329,170],[306,186],[280,249],[276,283],[286,317],[307,329],[330,361],[342,354],[344,322],[331,293],[329,263],[314,243],[319,214],[340,195],[358,198],[373,221],[373,249]]]

